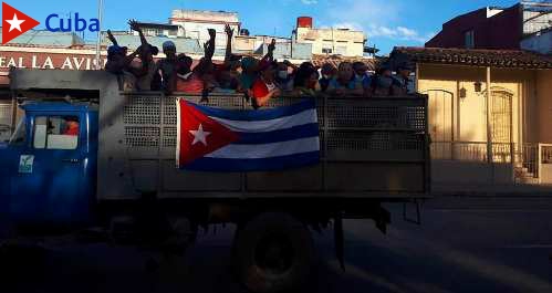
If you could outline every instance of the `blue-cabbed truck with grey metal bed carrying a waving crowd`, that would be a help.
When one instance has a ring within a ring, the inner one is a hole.
[[[320,164],[206,172],[175,167],[175,101],[247,109],[243,96],[127,93],[100,71],[14,70],[10,80],[20,119],[0,145],[0,227],[15,231],[11,240],[94,228],[106,239],[162,248],[233,223],[237,278],[253,292],[282,292],[306,280],[311,230],[333,222],[343,263],[343,219],[373,219],[385,232],[383,202],[429,193],[426,96],[321,96]]]

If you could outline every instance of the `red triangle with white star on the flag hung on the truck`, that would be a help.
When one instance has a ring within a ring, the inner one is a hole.
[[[208,117],[185,100],[178,100],[178,166],[201,158],[236,140],[239,136]]]

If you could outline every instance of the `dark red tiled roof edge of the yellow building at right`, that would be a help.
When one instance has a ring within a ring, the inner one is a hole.
[[[552,70],[552,56],[522,50],[396,46],[390,59],[395,62]]]

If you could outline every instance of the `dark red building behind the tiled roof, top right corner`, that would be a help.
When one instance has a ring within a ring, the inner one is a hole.
[[[429,40],[427,48],[519,50],[544,46],[533,39],[532,46],[522,48],[523,40],[552,27],[552,3],[522,1],[510,8],[482,8],[454,18]],[[508,32],[508,33],[504,33]]]

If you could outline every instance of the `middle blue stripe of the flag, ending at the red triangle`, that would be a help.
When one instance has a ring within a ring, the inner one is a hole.
[[[285,129],[278,129],[267,133],[236,133],[239,136],[237,145],[260,145],[288,142],[299,138],[319,136],[319,124],[310,123],[299,126],[293,126]]]

